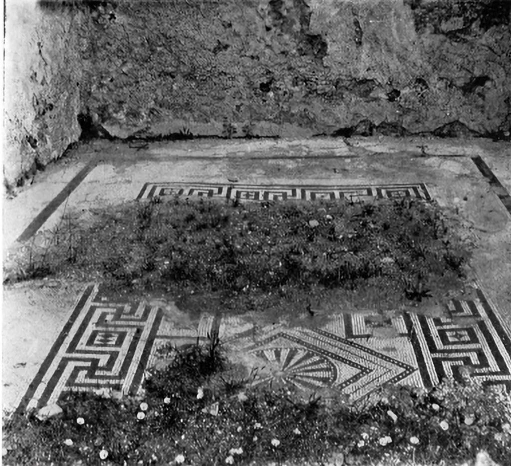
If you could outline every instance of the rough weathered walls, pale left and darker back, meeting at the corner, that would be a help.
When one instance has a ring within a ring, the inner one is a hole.
[[[10,182],[81,131],[509,137],[508,0],[27,2],[7,6]]]

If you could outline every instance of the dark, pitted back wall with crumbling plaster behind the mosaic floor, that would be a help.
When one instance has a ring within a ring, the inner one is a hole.
[[[85,104],[119,137],[505,132],[509,5],[120,0],[96,12]]]

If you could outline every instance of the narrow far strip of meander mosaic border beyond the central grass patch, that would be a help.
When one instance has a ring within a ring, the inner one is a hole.
[[[157,182],[145,183],[136,199],[164,196],[198,198],[264,200],[315,200],[351,199],[373,200],[375,198],[414,197],[431,200],[424,183],[308,185],[308,184],[237,184]]]

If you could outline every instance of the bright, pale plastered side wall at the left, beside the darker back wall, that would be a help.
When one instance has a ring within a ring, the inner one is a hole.
[[[20,182],[78,140],[82,64],[78,12],[7,2],[4,179]]]

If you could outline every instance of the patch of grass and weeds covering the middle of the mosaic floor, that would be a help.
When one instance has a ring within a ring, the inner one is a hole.
[[[411,198],[156,198],[98,211],[92,225],[63,225],[50,246],[26,257],[27,277],[80,270],[120,290],[216,296],[224,310],[252,310],[305,309],[364,292],[375,306],[421,301],[459,289],[469,252],[436,204]]]

